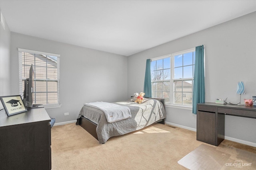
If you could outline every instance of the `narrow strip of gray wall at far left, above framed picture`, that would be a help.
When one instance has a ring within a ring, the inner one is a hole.
[[[0,96],[10,94],[10,47],[11,32],[5,23],[5,28],[0,23]],[[4,108],[0,102],[0,109]]]

